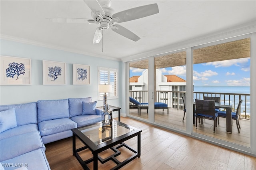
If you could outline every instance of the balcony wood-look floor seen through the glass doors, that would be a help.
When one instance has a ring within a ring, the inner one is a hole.
[[[167,114],[166,109],[155,109],[155,122],[168,127],[179,128],[186,130],[186,115],[184,122],[183,119],[184,112],[182,110],[169,108],[169,114]],[[137,109],[130,109],[130,115],[139,117]],[[148,119],[148,114],[146,110],[141,110],[141,118]],[[239,123],[241,126],[240,133],[238,133],[236,127],[236,121],[233,121],[232,134],[226,132],[226,119],[220,118],[220,125],[215,128],[215,133],[213,132],[213,121],[204,119],[203,125],[193,125],[193,131],[218,138],[221,140],[226,140],[228,142],[240,144],[243,146],[250,147],[250,120],[240,119]]]

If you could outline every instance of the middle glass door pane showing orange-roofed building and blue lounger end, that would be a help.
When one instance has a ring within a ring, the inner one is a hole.
[[[154,58],[154,122],[186,130],[186,51]]]

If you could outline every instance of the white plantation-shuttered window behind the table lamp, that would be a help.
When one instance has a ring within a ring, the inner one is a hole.
[[[108,93],[108,99],[118,98],[118,69],[98,67],[99,85],[110,84],[112,91]],[[99,93],[99,100],[103,100],[104,93]]]

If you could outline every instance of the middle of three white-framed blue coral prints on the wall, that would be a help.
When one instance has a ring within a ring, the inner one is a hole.
[[[43,60],[43,85],[65,85],[66,63]]]

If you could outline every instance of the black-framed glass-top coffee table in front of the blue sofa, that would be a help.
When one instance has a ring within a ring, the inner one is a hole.
[[[131,127],[119,121],[113,120],[112,127],[102,127],[101,122],[98,122],[96,124],[74,128],[72,129],[72,132],[73,155],[76,156],[77,160],[84,169],[89,169],[86,164],[90,162],[93,162],[94,170],[98,169],[98,160],[102,164],[112,160],[116,163],[116,166],[112,169],[119,169],[134,160],[136,157],[140,157],[140,133],[142,130]],[[138,151],[124,143],[124,141],[133,138],[134,136],[138,137]],[[76,149],[76,137],[83,142],[85,145],[84,147]],[[134,155],[130,156],[123,162],[120,162],[118,159],[116,159],[116,156],[121,154],[118,148],[121,148],[122,146],[134,152]],[[82,160],[78,152],[85,149],[89,149],[92,152],[92,158]],[[107,149],[113,150],[114,154],[102,159],[98,153]]]

